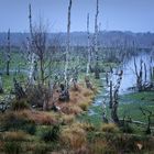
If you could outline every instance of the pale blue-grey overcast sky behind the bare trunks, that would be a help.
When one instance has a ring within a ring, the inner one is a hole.
[[[154,32],[154,0],[99,0],[101,30]],[[0,0],[0,32],[28,32],[28,6],[32,4],[33,21],[40,16],[51,32],[65,32],[68,0]],[[96,0],[73,0],[72,31],[86,31],[87,13],[94,31]]]

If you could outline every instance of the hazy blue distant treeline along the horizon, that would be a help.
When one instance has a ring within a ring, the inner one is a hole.
[[[29,33],[11,33],[11,45],[21,46],[26,43]],[[66,45],[66,33],[48,33],[48,44]],[[133,33],[120,31],[102,31],[99,32],[98,43],[103,47],[140,47],[151,48],[154,45],[154,33]],[[91,46],[94,34],[90,33]],[[7,44],[7,33],[0,33],[0,46]],[[70,33],[72,46],[87,46],[87,32],[73,32]]]

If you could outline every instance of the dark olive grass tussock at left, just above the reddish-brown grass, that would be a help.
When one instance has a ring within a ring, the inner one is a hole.
[[[28,102],[24,99],[12,102],[12,110],[19,111],[24,109],[30,109]]]

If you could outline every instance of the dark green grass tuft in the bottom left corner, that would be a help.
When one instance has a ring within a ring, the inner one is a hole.
[[[6,154],[21,154],[22,146],[19,142],[6,142],[4,153]]]

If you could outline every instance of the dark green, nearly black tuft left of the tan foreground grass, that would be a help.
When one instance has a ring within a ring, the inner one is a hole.
[[[45,142],[55,142],[59,139],[59,125],[54,125],[52,129],[42,133],[41,139]]]

